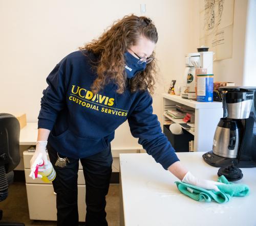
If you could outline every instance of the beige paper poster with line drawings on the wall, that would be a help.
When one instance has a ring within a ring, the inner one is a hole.
[[[200,45],[214,60],[232,58],[234,0],[200,0]]]

